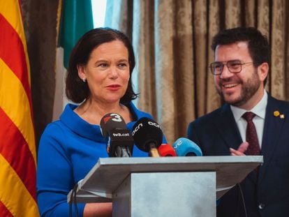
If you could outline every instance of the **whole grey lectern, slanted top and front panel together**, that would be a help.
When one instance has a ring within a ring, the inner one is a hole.
[[[216,200],[262,162],[262,156],[100,158],[67,198],[112,202],[116,217],[216,216]]]

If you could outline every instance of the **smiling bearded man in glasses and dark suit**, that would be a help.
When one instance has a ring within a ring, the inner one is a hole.
[[[226,29],[214,36],[212,49],[210,68],[225,104],[191,122],[188,138],[205,156],[264,157],[257,170],[221,197],[217,216],[289,216],[289,103],[265,91],[267,38],[252,27]],[[245,112],[253,112],[253,123],[247,124]],[[249,136],[252,124],[255,142]]]

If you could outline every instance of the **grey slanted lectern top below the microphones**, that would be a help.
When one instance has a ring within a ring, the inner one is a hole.
[[[77,202],[109,202],[114,191],[130,174],[161,172],[216,172],[218,199],[261,163],[262,156],[100,158],[79,181],[76,199]]]

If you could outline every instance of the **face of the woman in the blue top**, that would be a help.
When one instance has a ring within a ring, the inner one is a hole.
[[[100,103],[119,103],[130,77],[128,49],[120,40],[103,43],[92,50],[86,66],[77,66],[86,79],[90,98]]]

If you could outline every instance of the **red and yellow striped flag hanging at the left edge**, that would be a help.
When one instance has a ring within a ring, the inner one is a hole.
[[[39,216],[30,85],[20,1],[0,1],[0,216]]]

